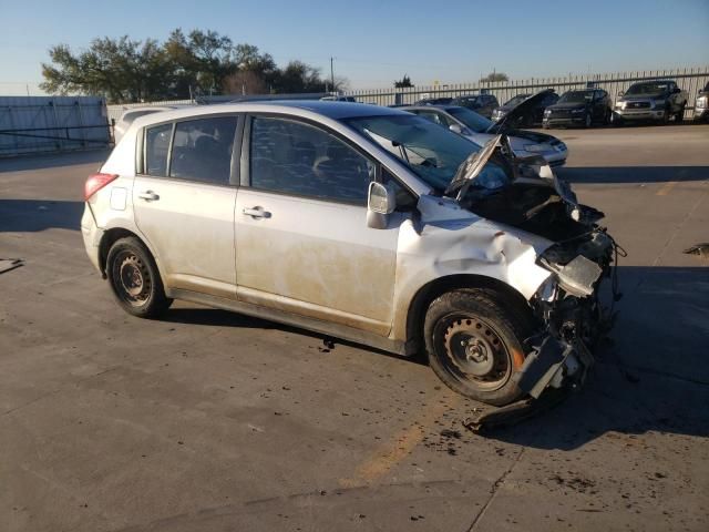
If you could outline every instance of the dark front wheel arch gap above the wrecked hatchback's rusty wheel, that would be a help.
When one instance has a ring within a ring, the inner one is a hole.
[[[407,313],[407,355],[421,354],[424,350],[423,320],[431,303],[448,291],[464,288],[484,288],[500,294],[505,305],[527,309],[531,307],[525,297],[506,283],[475,274],[454,274],[433,279],[423,285],[413,296]]]

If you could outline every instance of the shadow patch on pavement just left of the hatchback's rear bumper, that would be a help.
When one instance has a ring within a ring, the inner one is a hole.
[[[79,231],[83,202],[0,200],[0,233],[34,233],[53,227]]]

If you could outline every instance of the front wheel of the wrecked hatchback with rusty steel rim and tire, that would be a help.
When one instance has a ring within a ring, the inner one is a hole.
[[[526,308],[490,289],[461,289],[434,299],[423,334],[429,365],[453,391],[494,406],[522,396],[513,375],[534,330]]]

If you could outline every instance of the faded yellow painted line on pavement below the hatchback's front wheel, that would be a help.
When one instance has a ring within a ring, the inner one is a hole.
[[[429,403],[421,410],[413,424],[395,432],[377,452],[362,462],[351,478],[340,479],[340,485],[342,488],[367,485],[383,477],[391,468],[407,458],[421,443],[434,421],[458,402],[460,402],[460,397],[456,395],[436,398],[434,403]]]

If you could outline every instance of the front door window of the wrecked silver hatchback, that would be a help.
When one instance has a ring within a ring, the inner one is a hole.
[[[264,191],[367,205],[374,166],[326,131],[297,121],[255,117],[250,186]]]

